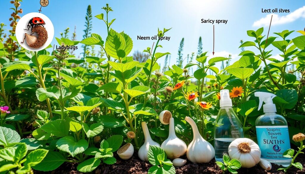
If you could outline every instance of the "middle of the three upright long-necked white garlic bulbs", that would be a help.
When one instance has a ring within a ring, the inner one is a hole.
[[[174,118],[170,118],[170,131],[168,138],[161,144],[161,148],[170,159],[179,158],[186,152],[186,144],[175,133]]]

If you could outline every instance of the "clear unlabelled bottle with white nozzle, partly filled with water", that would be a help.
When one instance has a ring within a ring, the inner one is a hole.
[[[232,108],[229,90],[220,91],[220,110],[214,124],[215,160],[221,161],[228,154],[230,143],[236,138],[243,138],[242,123]]]

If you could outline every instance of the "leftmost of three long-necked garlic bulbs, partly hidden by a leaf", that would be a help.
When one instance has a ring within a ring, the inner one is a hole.
[[[140,147],[140,149],[138,151],[138,156],[142,161],[147,162],[148,161],[147,152],[149,150],[149,145],[160,147],[160,144],[153,141],[152,138],[150,137],[146,122],[142,122],[141,125],[142,125],[142,129],[143,129],[145,141],[144,141],[144,144]]]

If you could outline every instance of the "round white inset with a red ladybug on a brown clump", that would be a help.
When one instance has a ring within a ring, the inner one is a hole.
[[[17,23],[16,38],[18,43],[26,50],[43,50],[51,44],[53,37],[53,24],[44,14],[28,13]]]

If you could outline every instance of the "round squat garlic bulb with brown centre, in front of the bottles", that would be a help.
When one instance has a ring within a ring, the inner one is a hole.
[[[249,138],[237,138],[228,148],[231,159],[238,159],[242,167],[250,168],[260,162],[260,147]]]

